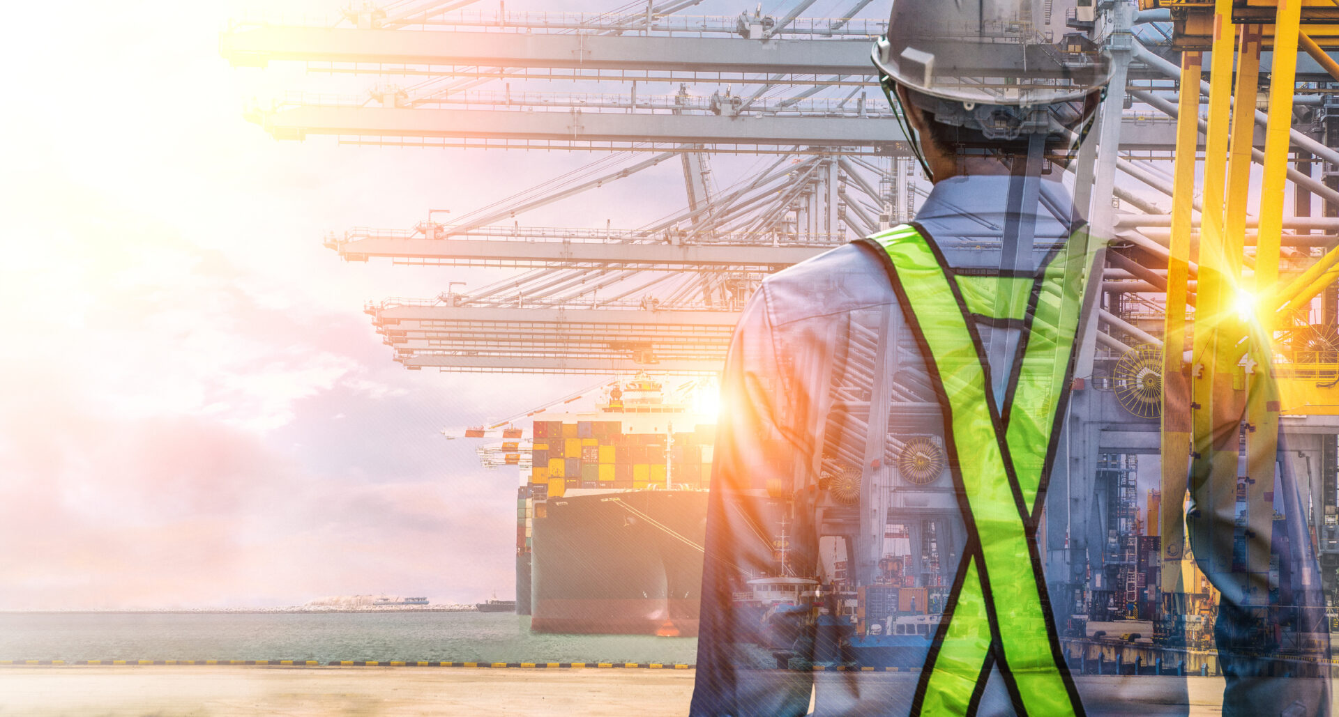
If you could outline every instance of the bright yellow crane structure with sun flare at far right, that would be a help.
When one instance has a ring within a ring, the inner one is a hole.
[[[1248,574],[1268,573],[1279,419],[1339,415],[1339,381],[1326,379],[1339,377],[1339,354],[1316,350],[1283,357],[1279,350],[1289,345],[1291,333],[1310,324],[1306,314],[1312,301],[1339,278],[1339,249],[1310,266],[1297,261],[1310,257],[1284,261],[1280,253],[1297,54],[1308,52],[1339,79],[1339,66],[1323,49],[1339,45],[1339,5],[1330,0],[1141,0],[1139,8],[1170,9],[1173,45],[1182,49],[1164,325],[1160,516],[1162,591],[1176,601],[1177,595],[1184,599],[1188,587],[1194,590],[1188,585],[1194,570],[1185,559],[1186,490],[1201,504],[1208,500],[1208,510],[1231,512],[1239,482],[1225,476],[1239,475],[1244,437],[1245,528],[1257,536],[1248,542],[1245,565]],[[1259,234],[1255,253],[1248,254],[1252,142],[1265,49],[1272,52],[1272,67]],[[1201,120],[1196,88],[1202,87],[1205,51],[1210,67],[1206,120]],[[1205,162],[1197,187],[1201,128]],[[1202,211],[1196,241],[1197,189]],[[1192,266],[1197,285],[1188,313]],[[1209,539],[1227,540],[1227,554],[1232,554],[1232,535]],[[1259,605],[1268,603],[1267,595],[1257,598]],[[1168,607],[1185,610],[1184,605]]]

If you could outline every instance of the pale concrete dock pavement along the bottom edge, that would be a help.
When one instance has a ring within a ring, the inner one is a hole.
[[[695,670],[16,666],[0,669],[0,716],[233,717],[327,716],[590,716],[682,717]],[[798,676],[797,676],[798,677]],[[817,682],[849,674],[815,674]],[[869,680],[865,674],[861,680]],[[915,689],[913,674],[877,676],[885,689]],[[1103,714],[1220,714],[1220,678],[1101,680]],[[1135,688],[1131,681],[1138,682]],[[1162,681],[1158,689],[1149,688]],[[1165,689],[1162,689],[1165,688]],[[1158,697],[1172,696],[1172,700]],[[1145,694],[1144,702],[1127,702]],[[1184,697],[1176,697],[1182,694]]]

